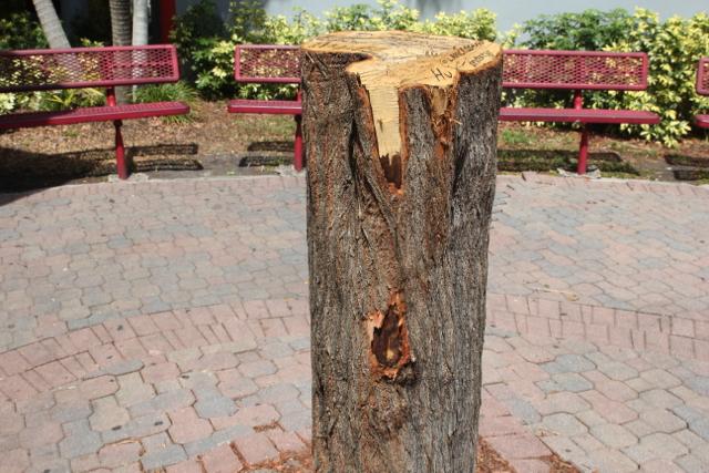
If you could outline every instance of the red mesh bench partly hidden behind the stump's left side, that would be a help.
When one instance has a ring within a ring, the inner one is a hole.
[[[242,44],[234,51],[234,79],[240,83],[259,84],[300,84],[300,48],[295,45]],[[294,167],[302,169],[302,113],[300,91],[295,100],[253,100],[229,101],[229,113],[266,113],[294,115],[296,138]]]

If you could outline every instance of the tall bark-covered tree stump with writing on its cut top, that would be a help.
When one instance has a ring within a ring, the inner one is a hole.
[[[302,47],[316,471],[474,471],[501,74],[459,38]]]

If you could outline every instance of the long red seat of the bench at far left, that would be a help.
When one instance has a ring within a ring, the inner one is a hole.
[[[114,106],[90,106],[59,112],[29,112],[0,115],[0,128],[111,122],[150,116],[184,115],[189,106],[182,102],[153,102]]]

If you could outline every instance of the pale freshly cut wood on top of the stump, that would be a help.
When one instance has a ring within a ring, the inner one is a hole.
[[[359,76],[369,92],[379,156],[401,155],[399,92],[408,86],[449,89],[461,73],[473,73],[500,60],[500,45],[452,37],[402,31],[343,31],[306,42],[308,52],[361,53],[370,59],[354,62],[348,72]],[[434,105],[444,110],[445,94]]]

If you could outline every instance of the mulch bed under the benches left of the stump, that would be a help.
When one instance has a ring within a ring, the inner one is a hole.
[[[233,115],[222,102],[197,101],[192,110],[187,123],[124,122],[133,172],[199,172],[216,163],[214,174],[228,175],[244,165],[271,164],[271,155],[292,150],[291,117]],[[0,132],[0,192],[105,181],[115,173],[113,141],[111,123]]]

